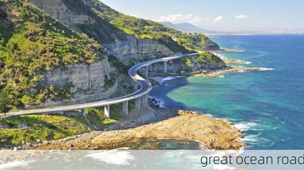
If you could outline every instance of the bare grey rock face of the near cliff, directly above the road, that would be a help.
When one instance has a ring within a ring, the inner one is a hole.
[[[108,98],[117,90],[117,81],[109,78],[107,59],[91,65],[74,64],[51,70],[42,76],[38,86],[54,86],[59,90],[68,88],[72,97],[64,100],[46,100],[37,106],[27,105],[25,108],[78,104]]]

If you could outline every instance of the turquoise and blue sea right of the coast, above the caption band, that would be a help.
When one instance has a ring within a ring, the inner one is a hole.
[[[228,59],[267,71],[223,78],[182,77],[165,81],[150,96],[162,106],[196,110],[240,128],[247,149],[304,149],[304,35],[212,36]],[[236,66],[236,65],[233,65]]]

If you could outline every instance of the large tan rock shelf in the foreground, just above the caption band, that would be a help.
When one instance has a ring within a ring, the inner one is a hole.
[[[116,149],[140,146],[144,140],[176,138],[203,142],[208,149],[234,149],[246,146],[239,139],[240,130],[231,122],[218,120],[193,111],[162,109],[169,116],[162,121],[123,126],[118,130],[93,132],[70,138],[45,141],[41,144],[24,146],[22,149],[66,150],[66,149]]]

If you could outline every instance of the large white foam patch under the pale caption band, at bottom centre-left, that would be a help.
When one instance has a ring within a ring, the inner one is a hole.
[[[115,165],[129,165],[130,162],[135,159],[134,156],[131,155],[131,152],[118,151],[117,149],[103,151],[100,153],[88,154],[86,155],[86,157],[91,157],[106,162],[108,164],[115,164]]]

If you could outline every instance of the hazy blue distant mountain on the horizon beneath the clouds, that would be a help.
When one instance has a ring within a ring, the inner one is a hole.
[[[159,23],[163,24],[167,27],[181,31],[181,32],[192,32],[192,33],[193,32],[198,32],[198,33],[215,33],[216,32],[216,31],[200,28],[200,27],[195,26],[190,23],[180,23],[180,24],[173,24],[171,22],[159,22]]]

